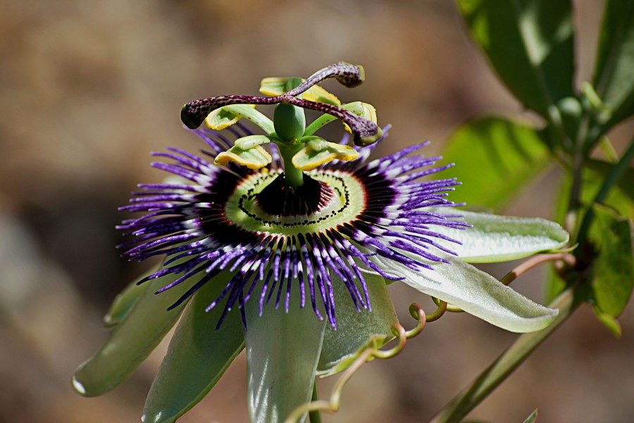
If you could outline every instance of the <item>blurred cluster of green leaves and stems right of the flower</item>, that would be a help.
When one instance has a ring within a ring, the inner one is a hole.
[[[458,5],[499,78],[542,117],[535,128],[480,119],[454,133],[447,156],[459,162],[456,174],[471,185],[460,200],[500,207],[551,161],[548,156],[561,164],[557,220],[579,245],[578,264],[568,276],[553,274],[545,293],[554,298],[568,284],[579,286],[599,321],[620,335],[615,318],[634,287],[634,140],[619,158],[604,135],[634,113],[634,3],[606,2],[594,77],[580,87],[573,85],[571,1],[458,0]],[[540,140],[549,152],[539,148]],[[614,157],[592,157],[597,145]]]

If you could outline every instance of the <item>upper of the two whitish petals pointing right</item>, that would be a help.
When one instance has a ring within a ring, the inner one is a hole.
[[[462,245],[441,240],[468,263],[496,263],[557,250],[568,243],[568,233],[557,223],[535,217],[497,216],[438,207],[439,214],[460,214],[473,225],[464,230],[439,226],[436,230]]]

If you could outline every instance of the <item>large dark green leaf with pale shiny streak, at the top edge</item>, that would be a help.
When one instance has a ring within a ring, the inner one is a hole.
[[[459,0],[459,8],[506,87],[549,119],[573,97],[574,27],[568,0]]]

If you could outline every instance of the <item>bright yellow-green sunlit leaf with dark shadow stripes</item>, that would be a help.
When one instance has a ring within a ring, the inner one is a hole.
[[[445,159],[456,166],[444,173],[462,186],[454,202],[499,210],[551,161],[537,132],[504,118],[468,121],[449,137]]]

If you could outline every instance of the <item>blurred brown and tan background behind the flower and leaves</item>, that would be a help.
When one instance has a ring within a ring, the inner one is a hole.
[[[578,80],[588,80],[603,1],[575,1]],[[166,343],[113,393],[81,398],[70,376],[108,333],[114,295],[149,264],[120,259],[117,207],[157,182],[149,152],[197,151],[180,106],[256,94],[266,76],[308,76],[336,61],[362,64],[355,90],[391,123],[376,154],[432,140],[478,114],[531,119],[497,82],[447,0],[0,0],[0,422],[137,422]],[[630,123],[612,135],[618,144]],[[547,217],[557,170],[518,193],[508,214]],[[492,189],[495,189],[492,187]],[[487,268],[502,276],[513,263]],[[539,270],[516,288],[540,300]],[[394,284],[407,306],[422,295]],[[634,311],[623,338],[578,310],[471,419],[630,422]],[[344,389],[325,422],[425,422],[515,336],[467,314],[430,324],[404,353],[375,360]],[[321,386],[326,396],[332,381]],[[182,422],[246,422],[244,356]]]

